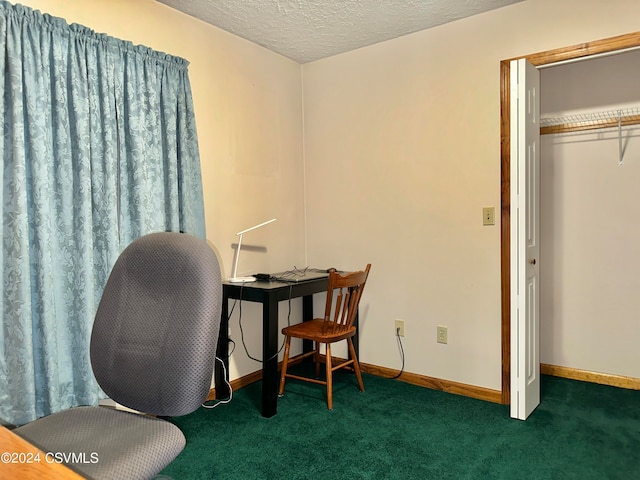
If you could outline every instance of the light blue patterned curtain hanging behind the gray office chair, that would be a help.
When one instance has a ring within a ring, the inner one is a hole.
[[[97,403],[89,337],[117,255],[152,231],[204,238],[187,66],[0,1],[0,422]]]

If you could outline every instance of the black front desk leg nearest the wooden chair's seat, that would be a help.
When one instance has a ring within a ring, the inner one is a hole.
[[[278,411],[278,301],[262,304],[262,416]]]

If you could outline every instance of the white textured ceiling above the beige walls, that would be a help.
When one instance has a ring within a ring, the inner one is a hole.
[[[522,0],[156,0],[307,63]]]

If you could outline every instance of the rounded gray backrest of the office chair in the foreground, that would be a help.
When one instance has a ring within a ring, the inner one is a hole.
[[[91,365],[100,387],[144,413],[197,409],[211,387],[221,303],[218,260],[205,242],[170,232],[135,240],[96,313]]]

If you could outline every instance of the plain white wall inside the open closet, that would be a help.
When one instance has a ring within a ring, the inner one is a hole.
[[[541,71],[542,118],[639,106],[639,51]],[[640,378],[640,125],[621,138],[541,137],[540,358]]]

